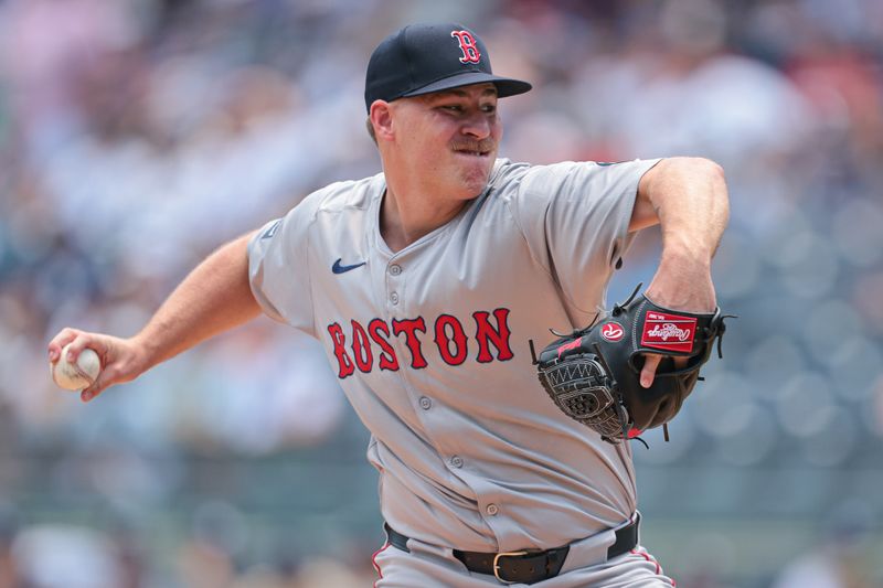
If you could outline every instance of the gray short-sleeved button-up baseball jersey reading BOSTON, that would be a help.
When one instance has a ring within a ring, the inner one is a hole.
[[[628,443],[562,414],[528,340],[584,327],[628,243],[656,160],[501,159],[460,214],[397,253],[384,175],[305,199],[249,244],[255,297],[325,345],[372,437],[390,525],[462,550],[551,548],[636,509]]]

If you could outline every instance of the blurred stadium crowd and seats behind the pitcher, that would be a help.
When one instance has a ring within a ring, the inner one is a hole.
[[[315,342],[262,318],[88,406],[45,346],[134,334],[221,243],[376,173],[368,56],[427,20],[534,83],[501,154],[726,170],[740,319],[635,448],[643,543],[685,588],[883,586],[879,0],[4,0],[0,587],[371,585],[368,435]]]

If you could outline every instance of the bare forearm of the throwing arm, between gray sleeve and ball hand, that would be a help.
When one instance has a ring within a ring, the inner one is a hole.
[[[260,313],[248,285],[248,239],[227,243],[196,266],[132,338],[146,368]]]

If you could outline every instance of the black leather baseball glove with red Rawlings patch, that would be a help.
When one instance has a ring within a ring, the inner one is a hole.
[[[583,330],[570,335],[552,331],[560,339],[534,355],[540,383],[557,407],[611,443],[674,418],[702,379],[699,371],[715,340],[723,356],[724,319],[734,318],[722,316],[720,308],[702,314],[659,307],[637,297],[640,288]],[[639,381],[645,353],[663,355],[649,388]],[[675,367],[675,357],[685,357],[687,365]]]

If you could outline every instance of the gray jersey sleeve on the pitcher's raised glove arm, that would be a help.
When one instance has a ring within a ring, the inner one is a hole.
[[[522,175],[513,199],[517,222],[534,259],[575,309],[594,313],[604,303],[615,265],[631,243],[638,183],[657,162],[567,161]]]

